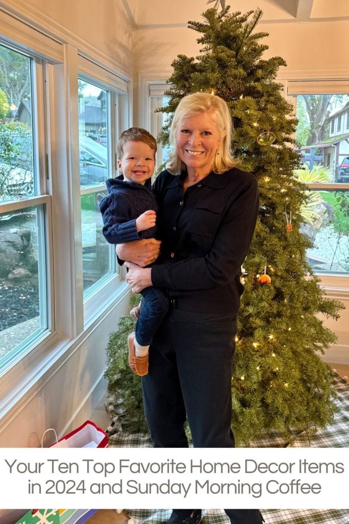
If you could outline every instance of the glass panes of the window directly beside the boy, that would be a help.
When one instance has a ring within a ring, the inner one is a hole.
[[[106,89],[78,80],[81,227],[84,291],[93,291],[115,271],[114,249],[102,233],[99,202],[112,175],[109,163],[110,94]]]

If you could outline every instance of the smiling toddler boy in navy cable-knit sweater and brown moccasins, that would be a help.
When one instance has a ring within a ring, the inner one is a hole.
[[[121,133],[117,152],[121,174],[106,181],[109,194],[99,204],[103,234],[110,244],[153,238],[158,209],[151,191],[156,140],[147,130],[131,127]],[[151,286],[143,289],[141,295],[136,332],[128,337],[129,364],[139,376],[148,373],[149,346],[168,310],[163,290]]]

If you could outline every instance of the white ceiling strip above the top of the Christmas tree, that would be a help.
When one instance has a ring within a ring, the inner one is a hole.
[[[135,29],[186,26],[215,0],[122,0]],[[349,0],[226,0],[230,12],[260,7],[261,23],[349,20]],[[220,8],[220,5],[219,5]]]

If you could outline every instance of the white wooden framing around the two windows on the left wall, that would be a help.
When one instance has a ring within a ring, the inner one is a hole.
[[[85,311],[84,322],[77,111],[77,76],[81,58],[78,50],[70,43],[52,39],[43,31],[33,29],[1,9],[0,26],[4,45],[45,61],[36,79],[38,96],[41,89],[43,100],[37,111],[42,194],[26,200],[26,205],[46,205],[47,278],[51,282],[49,329],[35,342],[27,341],[24,350],[0,371],[1,432],[12,421],[14,406],[29,401],[50,380],[116,303],[128,295],[129,288],[120,276],[114,276],[115,287],[112,289],[109,282],[104,286],[104,293],[99,293],[98,300],[92,301],[93,310]],[[91,71],[98,69],[98,78],[104,74],[104,80],[108,78],[106,83],[118,91],[117,96],[123,97],[117,119],[119,128],[128,127],[132,110],[131,79],[119,78],[115,71],[110,71],[110,66],[104,69],[92,60],[91,64]],[[46,165],[47,176],[43,176]],[[2,204],[1,209],[12,211],[16,205],[20,206],[20,202]]]

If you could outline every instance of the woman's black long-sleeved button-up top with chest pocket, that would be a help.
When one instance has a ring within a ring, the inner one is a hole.
[[[202,313],[238,311],[241,264],[258,212],[255,178],[239,169],[211,172],[183,193],[185,173],[160,173],[153,191],[162,239],[152,282],[176,307]]]

